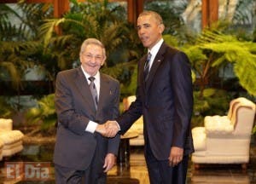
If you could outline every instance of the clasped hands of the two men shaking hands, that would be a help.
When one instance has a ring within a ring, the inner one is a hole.
[[[105,124],[98,124],[96,126],[96,132],[105,137],[114,137],[119,130],[119,124],[116,121],[107,121]]]

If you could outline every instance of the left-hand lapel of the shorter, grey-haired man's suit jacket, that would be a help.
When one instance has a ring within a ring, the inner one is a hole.
[[[77,76],[75,77],[75,79],[73,81],[75,81],[80,94],[82,96],[82,99],[84,99],[84,101],[86,101],[86,106],[89,106],[88,109],[93,109],[96,112],[96,107],[94,106],[94,101],[92,99],[92,95],[90,94],[90,88],[89,88],[89,84],[86,80],[86,78],[84,77],[84,73],[81,69],[81,67],[78,68],[78,72],[77,72]]]

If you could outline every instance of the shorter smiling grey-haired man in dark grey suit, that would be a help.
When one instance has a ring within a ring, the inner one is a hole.
[[[56,78],[55,181],[103,184],[115,164],[119,135],[106,138],[97,132],[104,132],[102,124],[119,115],[119,82],[99,72],[106,60],[100,41],[86,39],[79,57],[80,67]]]

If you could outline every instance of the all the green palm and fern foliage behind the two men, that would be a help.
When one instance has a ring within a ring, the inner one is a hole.
[[[57,72],[79,66],[79,48],[84,39],[96,37],[105,44],[108,52],[102,72],[119,79],[121,99],[134,95],[137,61],[145,49],[135,26],[126,20],[125,8],[107,0],[70,2],[70,11],[60,19],[53,18],[53,7],[48,3],[20,2],[17,11],[0,4],[0,82],[10,80],[19,95],[26,70],[39,66],[46,74],[44,80],[54,86]],[[253,32],[247,32],[243,26],[251,16],[247,14],[250,4],[252,0],[239,1],[232,22],[219,22],[216,27],[195,35],[180,19],[186,1],[145,3],[145,9],[156,10],[162,15],[166,43],[189,55],[195,84],[195,125],[202,124],[205,115],[225,114],[229,101],[237,96],[243,95],[255,101],[256,29],[253,27]],[[18,13],[20,11],[22,16]],[[20,24],[12,24],[10,15],[20,20]],[[228,65],[235,74],[232,82],[219,76],[219,71]],[[230,89],[225,83],[231,83],[234,88]],[[238,85],[235,87],[234,83]],[[27,121],[42,123],[44,130],[53,128],[56,118],[53,98],[53,95],[38,98],[38,106],[27,110]],[[0,103],[4,106],[3,110],[0,108],[1,116],[11,116],[14,109],[9,98],[1,98]]]

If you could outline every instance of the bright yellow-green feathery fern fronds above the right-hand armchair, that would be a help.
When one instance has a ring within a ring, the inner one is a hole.
[[[189,55],[193,69],[199,78],[201,96],[220,67],[228,63],[243,89],[256,95],[256,43],[237,39],[221,32],[202,32],[194,45],[183,48]]]

